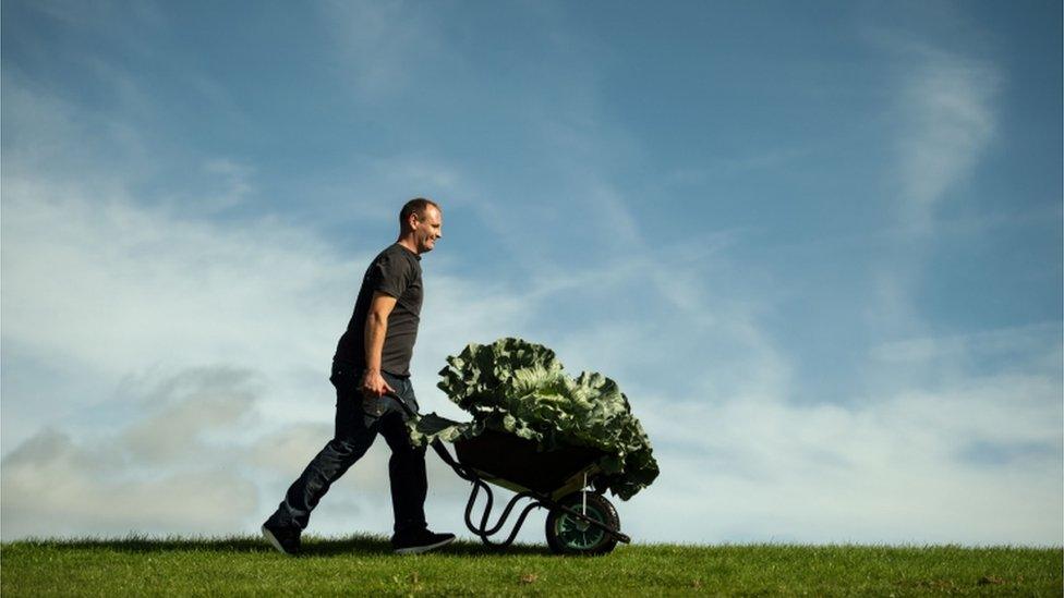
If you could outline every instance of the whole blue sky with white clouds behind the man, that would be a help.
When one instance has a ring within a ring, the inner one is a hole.
[[[1059,3],[0,7],[4,539],[253,530],[424,195],[422,404],[505,335],[615,378],[633,537],[1062,542]]]

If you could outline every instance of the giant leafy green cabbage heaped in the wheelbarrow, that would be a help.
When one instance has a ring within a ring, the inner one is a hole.
[[[437,387],[473,420],[423,416],[411,423],[414,442],[454,442],[489,428],[533,440],[542,450],[591,447],[605,453],[596,486],[624,500],[657,477],[646,432],[609,378],[587,371],[570,378],[553,351],[512,338],[469,344],[447,364]]]

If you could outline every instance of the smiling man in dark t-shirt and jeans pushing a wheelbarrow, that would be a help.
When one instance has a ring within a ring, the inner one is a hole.
[[[365,454],[378,432],[391,448],[388,475],[396,517],[395,551],[424,552],[455,539],[454,534],[427,529],[425,448],[411,444],[404,424],[410,413],[418,412],[410,356],[421,314],[421,254],[431,252],[442,236],[439,206],[421,197],[411,199],[399,212],[399,239],[366,270],[354,314],[332,358],[334,438],[263,524],[263,535],[281,552],[299,551],[300,534],[311,511],[329,486]]]

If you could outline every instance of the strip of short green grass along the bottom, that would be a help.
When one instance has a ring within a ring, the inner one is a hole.
[[[598,558],[456,542],[416,557],[383,538],[28,540],[0,546],[15,596],[1062,596],[1060,548],[619,546]]]

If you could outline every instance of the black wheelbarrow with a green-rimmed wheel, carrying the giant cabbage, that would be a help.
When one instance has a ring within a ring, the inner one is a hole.
[[[406,407],[402,401],[399,404]],[[492,429],[455,441],[457,460],[438,438],[431,444],[444,463],[473,485],[466,503],[466,527],[487,546],[504,548],[512,544],[525,517],[537,508],[547,510],[547,546],[557,554],[605,554],[617,542],[631,541],[620,532],[620,517],[614,505],[602,492],[589,491],[602,474],[598,463],[606,456],[602,451],[587,447],[541,451],[531,440]],[[488,484],[517,492],[495,525],[488,523],[495,503]],[[482,491],[486,502],[474,522],[473,508]],[[501,537],[506,521],[523,499],[530,502],[510,533],[501,541],[494,539]]]

